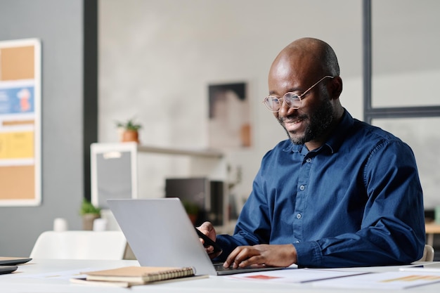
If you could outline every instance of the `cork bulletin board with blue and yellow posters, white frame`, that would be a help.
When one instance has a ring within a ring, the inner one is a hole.
[[[0,41],[0,206],[41,204],[41,42]]]

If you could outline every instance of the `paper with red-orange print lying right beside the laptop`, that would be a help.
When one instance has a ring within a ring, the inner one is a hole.
[[[225,278],[233,280],[247,280],[260,282],[283,282],[283,283],[304,283],[332,278],[342,278],[351,275],[363,275],[369,272],[344,271],[337,269],[313,269],[313,268],[286,268],[278,271],[265,271],[258,273],[240,273],[229,275]]]

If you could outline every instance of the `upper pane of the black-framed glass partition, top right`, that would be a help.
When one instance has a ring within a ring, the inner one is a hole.
[[[440,1],[375,0],[372,105],[440,105]]]

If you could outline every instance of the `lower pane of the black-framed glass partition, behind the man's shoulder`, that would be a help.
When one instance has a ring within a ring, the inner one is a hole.
[[[418,164],[425,209],[434,209],[440,205],[440,117],[373,119],[372,124],[410,145]]]

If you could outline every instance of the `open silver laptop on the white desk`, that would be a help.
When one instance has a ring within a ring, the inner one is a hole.
[[[108,206],[141,266],[192,266],[197,275],[280,269],[224,268],[221,263],[212,263],[177,197],[109,199]]]

